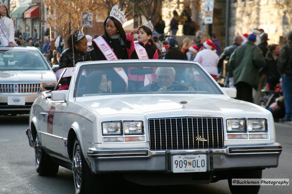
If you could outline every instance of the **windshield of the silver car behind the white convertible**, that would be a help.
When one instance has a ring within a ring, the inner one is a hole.
[[[49,70],[44,58],[34,50],[0,51],[0,71]]]

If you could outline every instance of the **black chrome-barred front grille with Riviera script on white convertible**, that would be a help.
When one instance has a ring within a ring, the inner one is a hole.
[[[224,146],[222,118],[149,119],[148,127],[152,150],[218,149]]]

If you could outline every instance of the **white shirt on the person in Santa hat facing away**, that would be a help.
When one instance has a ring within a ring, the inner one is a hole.
[[[197,53],[194,61],[197,61],[204,67],[204,69],[213,75],[218,75],[218,64],[219,57],[218,55],[212,51],[211,49],[204,49]]]

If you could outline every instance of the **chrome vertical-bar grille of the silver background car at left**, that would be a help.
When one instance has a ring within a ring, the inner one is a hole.
[[[0,93],[39,93],[41,83],[0,83]]]

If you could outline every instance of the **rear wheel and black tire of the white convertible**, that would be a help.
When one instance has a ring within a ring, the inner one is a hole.
[[[58,173],[59,165],[45,152],[41,146],[38,134],[36,134],[36,139],[34,140],[34,160],[36,172],[39,173],[39,175],[53,176]]]

